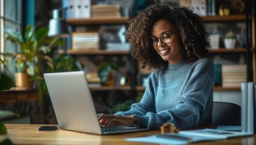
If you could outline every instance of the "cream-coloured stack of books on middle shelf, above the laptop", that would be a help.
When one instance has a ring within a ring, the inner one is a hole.
[[[74,50],[99,50],[99,33],[72,33],[72,48]]]

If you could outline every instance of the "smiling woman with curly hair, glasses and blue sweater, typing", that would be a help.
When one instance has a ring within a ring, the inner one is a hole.
[[[159,129],[211,125],[215,67],[206,56],[209,37],[199,16],[187,8],[157,5],[131,19],[131,54],[154,68],[140,103],[115,115],[98,114],[105,127],[117,124]]]

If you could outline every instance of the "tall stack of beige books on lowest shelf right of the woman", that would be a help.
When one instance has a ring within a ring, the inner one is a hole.
[[[222,86],[240,87],[246,82],[246,65],[222,65]]]

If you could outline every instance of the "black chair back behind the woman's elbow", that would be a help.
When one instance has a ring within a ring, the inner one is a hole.
[[[212,126],[240,126],[241,106],[234,103],[214,101]]]

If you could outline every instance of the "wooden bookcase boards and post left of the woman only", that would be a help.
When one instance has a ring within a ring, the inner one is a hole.
[[[128,17],[97,17],[97,18],[90,18],[90,19],[67,19],[66,22],[73,27],[73,30],[76,26],[79,27],[87,27],[88,25],[99,27],[100,25],[126,25],[128,24],[128,21],[130,18]],[[96,28],[97,29],[97,28]],[[125,56],[130,58],[130,50],[87,50],[87,49],[68,49],[67,54],[74,55],[77,58],[78,57],[117,57],[117,56]],[[133,63],[134,61],[131,60],[129,63]],[[134,65],[131,64],[131,67]],[[130,71],[130,70],[126,70]],[[130,72],[133,73],[133,72]],[[132,84],[134,84],[132,81],[134,80],[133,77],[135,75],[131,74],[130,83],[125,86],[100,86],[100,87],[90,87],[91,91],[97,92],[97,91],[131,91],[132,90]]]

